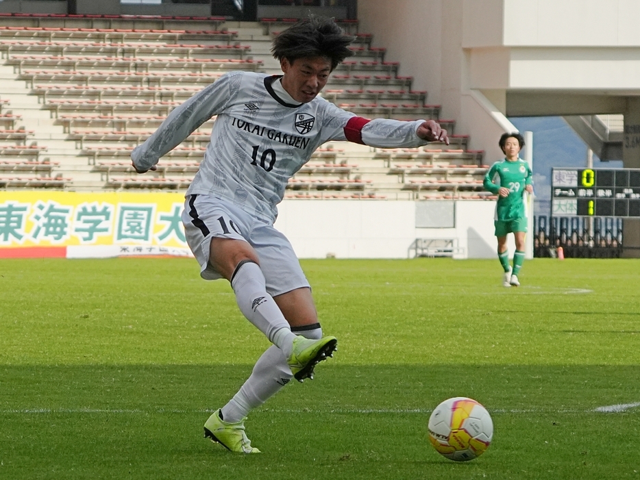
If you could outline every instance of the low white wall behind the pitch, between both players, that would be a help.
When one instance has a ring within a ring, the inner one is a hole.
[[[406,258],[416,238],[456,238],[457,258],[493,258],[494,209],[456,201],[454,227],[417,228],[415,201],[285,200],[275,227],[300,258]]]

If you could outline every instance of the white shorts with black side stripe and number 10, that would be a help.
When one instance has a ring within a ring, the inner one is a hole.
[[[271,296],[310,287],[286,237],[273,225],[247,214],[230,201],[209,195],[187,195],[182,223],[186,242],[200,264],[200,276],[205,280],[222,278],[209,263],[211,239],[218,237],[243,240],[254,248]]]

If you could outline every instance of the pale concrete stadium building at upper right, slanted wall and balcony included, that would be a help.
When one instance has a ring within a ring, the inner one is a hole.
[[[632,114],[640,94],[637,0],[367,0],[358,18],[489,159],[504,116]]]

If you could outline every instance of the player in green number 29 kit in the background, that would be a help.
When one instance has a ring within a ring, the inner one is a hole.
[[[498,196],[495,204],[495,236],[497,237],[497,257],[504,270],[505,287],[520,286],[518,275],[524,262],[524,238],[527,233],[527,209],[525,192],[533,193],[532,171],[527,162],[518,154],[524,147],[524,138],[517,133],[503,134],[500,148],[504,160],[495,162],[484,175],[484,188]],[[509,265],[509,251],[506,236],[513,233],[515,253],[513,268]]]

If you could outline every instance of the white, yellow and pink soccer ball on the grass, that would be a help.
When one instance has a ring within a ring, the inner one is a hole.
[[[493,438],[493,420],[473,399],[443,401],[429,418],[429,440],[438,453],[456,462],[480,457]]]

